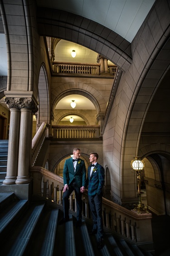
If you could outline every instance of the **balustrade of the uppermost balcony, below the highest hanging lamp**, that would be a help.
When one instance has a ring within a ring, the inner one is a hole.
[[[117,66],[108,65],[107,72],[102,75],[115,75]],[[57,74],[77,74],[77,75],[101,75],[100,64],[75,64],[53,62],[53,72]]]

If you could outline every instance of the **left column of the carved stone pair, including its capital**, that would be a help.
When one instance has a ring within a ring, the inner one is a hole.
[[[17,98],[5,98],[5,103],[10,109],[10,133],[7,175],[3,183],[5,185],[11,185],[15,184],[18,172],[20,110]]]

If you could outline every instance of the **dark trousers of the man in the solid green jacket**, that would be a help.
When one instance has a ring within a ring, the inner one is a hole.
[[[80,192],[80,188],[78,188],[75,181],[72,181],[71,184],[68,186],[68,189],[63,193],[63,209],[64,209],[64,218],[68,219],[68,211],[69,211],[69,196],[71,193],[75,191],[76,196],[76,204],[77,204],[77,221],[82,220],[82,193]]]

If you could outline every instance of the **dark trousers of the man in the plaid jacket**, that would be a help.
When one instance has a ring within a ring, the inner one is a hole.
[[[97,230],[98,239],[103,238],[102,194],[88,196],[88,200],[92,212],[93,229]]]

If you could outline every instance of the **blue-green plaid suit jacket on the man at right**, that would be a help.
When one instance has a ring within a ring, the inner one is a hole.
[[[91,166],[88,167],[88,174],[86,180],[86,186],[88,186],[88,195],[94,196],[96,194],[102,193],[102,187],[104,185],[104,168],[98,163],[93,169],[92,175],[90,177]]]

